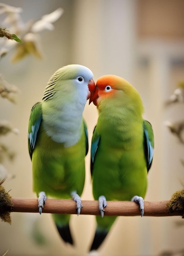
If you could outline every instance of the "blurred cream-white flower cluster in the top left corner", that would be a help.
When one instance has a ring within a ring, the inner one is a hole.
[[[11,59],[13,63],[20,61],[29,54],[34,54],[37,58],[42,57],[40,32],[45,29],[53,30],[54,25],[52,23],[61,17],[63,9],[58,8],[36,22],[29,20],[26,23],[21,19],[21,12],[22,8],[0,3],[0,15],[6,15],[0,27],[8,27],[11,33],[16,34],[23,41],[21,44],[17,44],[15,40],[8,40],[6,37],[0,38],[0,58],[13,48],[14,54]]]

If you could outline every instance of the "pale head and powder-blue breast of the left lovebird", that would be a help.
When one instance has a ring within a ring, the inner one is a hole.
[[[52,140],[66,147],[81,138],[83,110],[90,97],[93,74],[88,67],[67,65],[49,79],[42,101],[43,127]]]

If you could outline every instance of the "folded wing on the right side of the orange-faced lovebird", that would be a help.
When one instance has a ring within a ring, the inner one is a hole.
[[[154,151],[154,135],[151,124],[144,120],[144,153],[146,157],[147,170],[149,171],[152,161],[153,161],[153,151]]]

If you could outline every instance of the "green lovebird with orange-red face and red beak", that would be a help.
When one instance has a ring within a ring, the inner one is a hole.
[[[105,216],[108,200],[135,201],[144,214],[147,173],[153,161],[154,136],[144,120],[143,103],[137,90],[125,79],[101,76],[90,87],[90,103],[99,117],[91,144],[92,189],[99,200],[96,232],[90,251],[99,248],[116,216]]]

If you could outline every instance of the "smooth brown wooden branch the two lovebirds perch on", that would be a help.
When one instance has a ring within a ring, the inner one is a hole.
[[[38,199],[12,198],[13,207],[0,209],[10,212],[38,213]],[[140,216],[139,206],[130,201],[108,201],[104,216]],[[168,201],[144,202],[144,216],[181,216],[180,211],[169,213]],[[100,215],[98,201],[82,201],[81,214]],[[43,213],[76,214],[73,200],[47,199]]]

